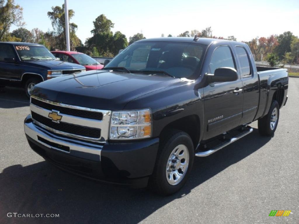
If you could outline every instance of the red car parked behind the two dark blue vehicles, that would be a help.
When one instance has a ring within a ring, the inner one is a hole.
[[[60,58],[63,62],[72,62],[75,64],[83,65],[86,71],[102,69],[104,65],[91,58],[90,56],[76,52],[76,51],[51,51],[56,58]]]

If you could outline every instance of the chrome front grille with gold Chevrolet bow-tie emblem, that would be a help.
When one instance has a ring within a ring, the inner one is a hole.
[[[93,142],[106,142],[111,111],[78,107],[31,96],[31,117],[35,125],[56,134]],[[54,120],[51,114],[60,119]]]

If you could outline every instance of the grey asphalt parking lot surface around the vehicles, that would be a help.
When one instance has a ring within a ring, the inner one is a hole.
[[[209,157],[196,158],[185,187],[170,197],[104,185],[55,168],[34,153],[21,89],[0,93],[0,223],[299,223],[299,79],[274,137],[254,131]],[[269,217],[271,210],[291,210]],[[7,213],[59,217],[7,217]]]

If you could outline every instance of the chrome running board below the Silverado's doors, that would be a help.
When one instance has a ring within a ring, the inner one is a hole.
[[[225,146],[237,141],[238,139],[244,137],[245,135],[248,135],[249,133],[251,133],[253,131],[253,129],[249,126],[244,126],[241,128],[241,131],[239,132],[239,134],[237,134],[236,136],[231,137],[230,139],[224,140],[223,142],[221,142],[220,144],[213,146],[211,148],[209,148],[206,151],[199,151],[195,154],[195,156],[198,157],[206,157],[209,156],[210,154],[218,151],[219,149],[224,148]],[[226,133],[225,133],[226,134]],[[224,137],[225,135],[223,135]],[[225,138],[225,137],[224,137]],[[206,146],[206,145],[205,145]],[[207,148],[207,147],[205,147]]]

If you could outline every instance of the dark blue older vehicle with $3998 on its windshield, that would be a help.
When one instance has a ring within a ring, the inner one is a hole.
[[[84,66],[56,60],[43,45],[0,42],[0,87],[25,88],[28,97],[39,82],[82,71]]]

